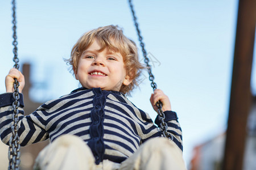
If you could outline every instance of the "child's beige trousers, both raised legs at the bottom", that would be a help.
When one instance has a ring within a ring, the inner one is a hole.
[[[38,170],[170,170],[186,169],[179,147],[166,138],[152,138],[121,164],[103,160],[96,165],[90,148],[75,135],[62,135],[46,146],[36,158]]]

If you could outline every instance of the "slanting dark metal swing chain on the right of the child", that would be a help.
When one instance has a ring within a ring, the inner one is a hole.
[[[155,91],[156,87],[157,87],[156,83],[154,82],[155,77],[152,74],[151,66],[149,65],[149,61],[150,60],[148,59],[147,52],[146,52],[146,50],[144,48],[145,45],[144,45],[144,42],[142,41],[143,38],[141,36],[141,31],[139,30],[139,24],[137,22],[137,18],[135,16],[135,11],[134,11],[134,8],[133,8],[133,4],[131,3],[131,0],[129,0],[129,5],[130,5],[131,13],[133,14],[134,25],[135,25],[135,27],[137,29],[137,34],[138,34],[138,37],[139,37],[139,42],[141,43],[140,45],[141,45],[141,48],[142,48],[144,62],[146,63],[146,66],[147,66],[147,72],[149,74],[149,80],[151,81],[151,87],[153,88],[153,91]],[[163,137],[167,137],[170,140],[173,140],[174,137],[170,133],[168,133],[168,131],[167,131],[167,128],[168,128],[167,123],[164,122],[164,118],[166,118],[166,116],[165,116],[165,114],[163,113],[163,110],[162,110],[162,103],[160,101],[158,101],[156,103],[156,107],[158,107],[158,115],[159,115],[158,118],[159,118],[159,121],[161,122],[159,126],[160,126],[160,129],[162,129],[162,136]]]

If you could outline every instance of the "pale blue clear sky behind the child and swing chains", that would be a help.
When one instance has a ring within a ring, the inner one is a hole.
[[[155,82],[169,96],[179,117],[183,155],[189,164],[194,146],[226,129],[238,1],[148,0],[133,4]],[[11,15],[11,2],[1,1],[0,93],[5,92],[5,76],[14,65]],[[72,46],[86,31],[119,25],[139,45],[127,1],[18,1],[16,15],[18,57],[21,65],[31,64],[30,97],[38,102],[79,87],[63,59],[69,58]],[[254,94],[255,63],[254,59]],[[147,76],[143,72],[139,88],[128,98],[155,120]]]

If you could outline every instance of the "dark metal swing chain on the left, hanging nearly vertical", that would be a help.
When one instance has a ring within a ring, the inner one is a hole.
[[[15,14],[15,0],[13,0],[13,45],[14,45],[14,49],[13,49],[13,53],[14,53],[14,58],[13,61],[15,62],[14,67],[16,69],[19,69],[19,59],[18,59],[18,53],[17,53],[17,45],[18,42],[17,40],[17,36],[16,36],[16,14]],[[13,102],[13,125],[11,126],[11,133],[12,136],[10,138],[9,141],[9,151],[8,151],[8,158],[9,158],[9,167],[8,169],[19,169],[19,164],[20,164],[20,145],[19,145],[19,136],[18,136],[18,114],[19,114],[19,82],[18,80],[15,78],[14,79],[15,82],[13,84],[14,86],[14,92],[13,92],[13,98],[14,98],[14,102]]]

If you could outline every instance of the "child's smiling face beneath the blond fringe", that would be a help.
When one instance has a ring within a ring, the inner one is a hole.
[[[96,88],[102,90],[119,91],[122,84],[126,86],[131,83],[126,76],[125,64],[120,53],[110,53],[107,48],[98,52],[101,46],[96,40],[86,49],[79,59],[76,79],[82,87]]]

